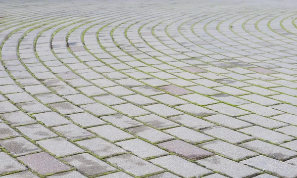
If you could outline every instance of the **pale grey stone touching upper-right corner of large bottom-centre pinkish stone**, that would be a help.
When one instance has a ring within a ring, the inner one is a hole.
[[[221,126],[204,129],[201,132],[236,144],[253,138],[246,134],[241,134],[239,132]]]

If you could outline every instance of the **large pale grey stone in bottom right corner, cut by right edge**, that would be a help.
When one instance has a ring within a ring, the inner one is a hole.
[[[249,158],[240,163],[265,170],[266,172],[280,176],[281,178],[295,178],[297,176],[297,166],[262,155]]]

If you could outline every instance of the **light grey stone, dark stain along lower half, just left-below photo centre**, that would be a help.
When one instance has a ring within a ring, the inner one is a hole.
[[[146,116],[135,117],[136,120],[146,123],[149,126],[155,127],[157,129],[166,129],[174,126],[179,126],[168,119],[164,119],[160,116],[149,114]]]

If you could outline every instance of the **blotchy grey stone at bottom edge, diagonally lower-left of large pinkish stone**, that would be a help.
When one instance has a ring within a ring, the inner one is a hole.
[[[106,161],[115,164],[116,166],[129,173],[132,173],[137,177],[163,171],[163,169],[132,154],[124,154],[107,158]]]

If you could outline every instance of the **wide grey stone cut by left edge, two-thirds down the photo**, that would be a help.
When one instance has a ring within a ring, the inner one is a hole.
[[[34,119],[22,111],[1,114],[3,120],[7,121],[11,126],[19,126],[25,124],[36,123]]]

